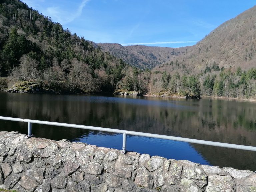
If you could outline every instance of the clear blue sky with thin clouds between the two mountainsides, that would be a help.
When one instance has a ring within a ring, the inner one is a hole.
[[[23,0],[96,43],[194,45],[256,0]]]

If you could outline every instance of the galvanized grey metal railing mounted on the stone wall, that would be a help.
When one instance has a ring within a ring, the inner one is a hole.
[[[121,133],[121,134],[123,134],[123,147],[122,147],[122,153],[123,154],[126,152],[126,138],[127,138],[127,135],[136,135],[136,136],[143,136],[143,137],[168,139],[168,140],[174,140],[174,141],[183,141],[183,142],[196,143],[196,144],[202,144],[202,145],[211,145],[211,146],[217,146],[217,147],[227,147],[227,148],[233,148],[233,149],[243,149],[243,150],[248,150],[248,151],[256,151],[256,147],[252,147],[252,146],[236,145],[236,144],[229,144],[229,143],[220,143],[220,142],[214,142],[214,141],[204,141],[204,140],[189,139],[189,138],[183,138],[183,137],[174,137],[174,136],[168,136],[168,135],[158,135],[158,134],[152,134],[152,133],[142,133],[142,132],[136,132],[136,131],[126,131],[126,130],[119,130],[119,129],[110,129],[110,128],[103,128],[103,127],[92,127],[92,126],[75,125],[75,124],[68,124],[68,123],[57,123],[57,122],[50,122],[50,121],[20,119],[20,118],[13,118],[13,117],[2,117],[2,116],[0,116],[0,119],[1,120],[19,121],[19,122],[28,123],[28,137],[32,136],[32,123],[43,124],[43,125],[55,125],[55,126],[61,126],[61,127],[79,128],[79,129],[89,129],[89,130],[95,130],[95,131],[105,131],[105,132],[111,132],[111,133]]]

